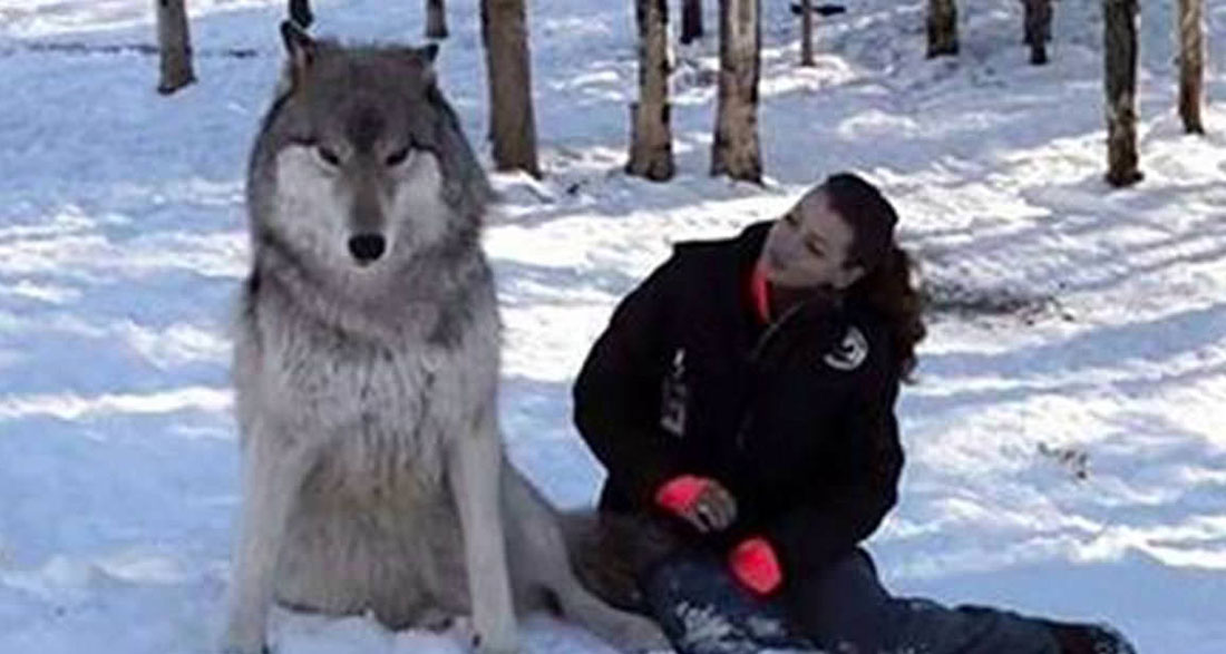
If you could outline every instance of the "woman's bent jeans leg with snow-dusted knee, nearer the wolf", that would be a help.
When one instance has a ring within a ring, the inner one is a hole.
[[[678,654],[809,653],[777,600],[744,590],[717,557],[685,552],[656,566],[644,595]]]

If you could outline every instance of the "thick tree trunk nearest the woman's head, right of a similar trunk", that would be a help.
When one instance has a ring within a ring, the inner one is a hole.
[[[711,174],[761,184],[758,75],[761,0],[720,0],[720,99]]]

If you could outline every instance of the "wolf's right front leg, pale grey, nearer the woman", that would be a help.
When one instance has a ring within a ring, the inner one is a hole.
[[[465,435],[447,453],[447,476],[463,532],[472,618],[479,650],[487,654],[519,652],[499,497],[501,458],[501,442],[493,426]]]

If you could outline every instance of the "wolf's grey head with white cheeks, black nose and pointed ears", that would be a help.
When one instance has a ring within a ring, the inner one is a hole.
[[[256,247],[357,282],[476,246],[489,186],[435,85],[436,47],[281,31],[287,62],[248,176]]]

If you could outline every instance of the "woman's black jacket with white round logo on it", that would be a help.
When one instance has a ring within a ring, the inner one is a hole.
[[[760,323],[748,279],[767,230],[680,244],[622,301],[575,383],[575,424],[608,469],[602,511],[656,511],[679,474],[717,479],[737,522],[695,541],[765,535],[786,578],[850,554],[894,506],[899,375],[885,325],[852,303]]]

